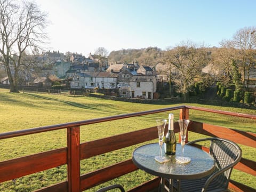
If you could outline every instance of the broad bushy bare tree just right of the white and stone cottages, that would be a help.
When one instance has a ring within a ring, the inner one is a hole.
[[[177,92],[183,94],[185,101],[188,100],[195,78],[201,74],[201,69],[206,65],[207,58],[205,48],[192,42],[181,43],[172,50],[166,51],[164,62],[174,66],[171,78],[177,87]]]

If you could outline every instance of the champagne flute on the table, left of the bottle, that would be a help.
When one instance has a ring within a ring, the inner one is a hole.
[[[162,156],[162,146],[163,146],[163,139],[164,139],[164,129],[165,129],[165,125],[166,125],[167,120],[166,119],[157,119],[156,123],[157,123],[157,131],[158,131],[158,143],[159,143],[159,147],[160,147],[160,155],[159,156],[155,156],[155,160],[159,163],[164,163],[167,161],[170,161],[169,158],[166,158],[165,156]]]

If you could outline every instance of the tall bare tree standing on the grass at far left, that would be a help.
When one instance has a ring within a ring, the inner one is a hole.
[[[46,39],[46,18],[35,2],[0,0],[0,62],[9,77],[10,92],[19,92],[19,73],[26,66],[26,52],[40,49]]]

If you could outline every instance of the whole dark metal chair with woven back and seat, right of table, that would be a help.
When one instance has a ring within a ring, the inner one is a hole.
[[[241,148],[233,141],[221,138],[205,138],[188,142],[191,145],[200,141],[210,141],[210,154],[215,160],[215,171],[208,177],[196,180],[181,180],[181,191],[229,191],[228,183],[233,167],[242,157]],[[178,185],[175,181],[174,186]]]

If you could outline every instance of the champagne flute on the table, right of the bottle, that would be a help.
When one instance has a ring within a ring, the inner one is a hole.
[[[176,161],[185,164],[190,162],[189,157],[184,157],[184,146],[185,146],[185,140],[186,140],[186,134],[188,129],[189,120],[188,119],[180,119],[178,120],[179,126],[180,126],[180,137],[181,137],[181,156],[175,157]]]

